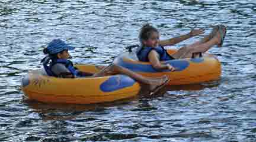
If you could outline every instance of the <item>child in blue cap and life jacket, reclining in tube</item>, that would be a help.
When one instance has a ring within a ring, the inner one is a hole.
[[[46,57],[41,60],[43,62],[44,70],[47,75],[53,77],[62,78],[76,78],[76,77],[102,77],[111,74],[123,74],[127,75],[140,84],[146,85],[152,93],[155,93],[160,88],[164,87],[169,81],[166,75],[158,78],[148,78],[130,71],[119,65],[111,64],[108,67],[104,67],[102,70],[95,74],[89,72],[82,72],[73,67],[73,64],[68,59],[70,58],[69,50],[74,49],[72,46],[66,44],[61,39],[53,39],[47,48],[44,48],[44,54]]]

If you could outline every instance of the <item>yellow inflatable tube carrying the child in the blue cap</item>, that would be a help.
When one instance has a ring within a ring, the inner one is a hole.
[[[79,70],[97,72],[94,65],[76,65]],[[140,85],[125,75],[88,78],[56,78],[43,75],[43,70],[29,72],[21,88],[29,100],[44,103],[104,103],[137,95]]]

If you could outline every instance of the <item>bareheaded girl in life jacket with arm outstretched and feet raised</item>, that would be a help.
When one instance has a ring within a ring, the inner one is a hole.
[[[213,28],[209,35],[206,35],[200,41],[194,44],[181,47],[172,55],[164,49],[165,46],[175,45],[185,39],[203,34],[203,29],[193,29],[190,33],[181,35],[180,37],[170,38],[166,40],[159,39],[158,29],[152,25],[146,24],[140,29],[139,41],[141,46],[137,49],[137,57],[139,61],[150,62],[155,70],[171,70],[175,68],[170,64],[161,64],[161,61],[168,61],[181,58],[191,58],[193,54],[208,51],[214,45],[222,47],[223,40],[226,35],[226,27],[224,25],[217,25]]]

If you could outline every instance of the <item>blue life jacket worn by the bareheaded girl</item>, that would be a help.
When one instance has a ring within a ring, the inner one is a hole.
[[[169,61],[169,60],[174,60],[173,57],[171,57],[171,55],[168,54],[168,52],[164,49],[164,47],[159,46],[156,48],[152,48],[152,47],[139,47],[137,48],[137,57],[139,58],[139,61],[142,62],[149,62],[148,59],[148,54],[149,52],[151,52],[151,50],[155,50],[159,56],[160,56],[160,61]]]

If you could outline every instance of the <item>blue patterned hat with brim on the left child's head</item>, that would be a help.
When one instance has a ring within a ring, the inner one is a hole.
[[[47,45],[47,50],[48,50],[49,54],[57,54],[58,52],[61,52],[63,50],[72,50],[72,49],[75,49],[75,48],[66,44],[61,39],[53,39]]]

